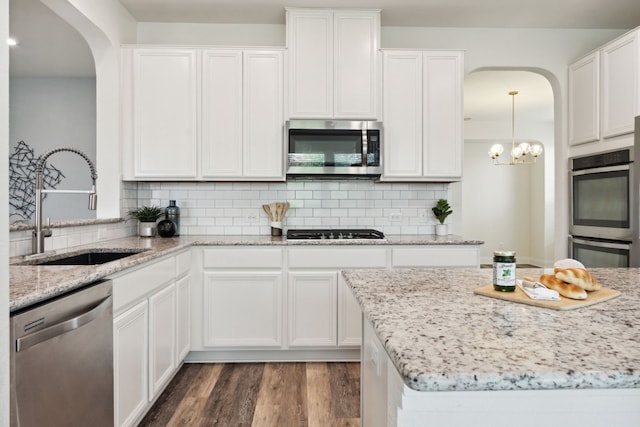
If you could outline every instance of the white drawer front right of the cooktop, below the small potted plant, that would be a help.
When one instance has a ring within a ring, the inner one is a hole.
[[[477,247],[431,246],[391,249],[393,267],[479,267]]]

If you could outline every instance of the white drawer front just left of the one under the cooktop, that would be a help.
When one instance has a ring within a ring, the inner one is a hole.
[[[235,248],[205,249],[204,268],[282,268],[282,249]]]

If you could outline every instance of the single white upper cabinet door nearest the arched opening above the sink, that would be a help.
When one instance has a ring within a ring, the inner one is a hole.
[[[196,177],[196,51],[135,49],[134,174]]]

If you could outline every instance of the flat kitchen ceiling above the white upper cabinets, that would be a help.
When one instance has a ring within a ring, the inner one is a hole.
[[[284,24],[284,8],[382,9],[382,25],[631,29],[638,0],[120,0],[146,22]]]

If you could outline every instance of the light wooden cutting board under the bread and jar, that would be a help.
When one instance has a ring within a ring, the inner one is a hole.
[[[516,286],[514,292],[500,292],[493,289],[493,285],[482,286],[475,289],[474,294],[483,295],[491,298],[498,298],[505,301],[513,301],[520,304],[534,305],[536,307],[551,308],[553,310],[575,310],[576,308],[588,307],[590,305],[599,304],[608,301],[620,295],[620,291],[609,288],[601,288],[598,291],[588,292],[587,299],[577,300],[571,298],[560,297],[560,301],[545,301],[531,299],[519,287]]]

